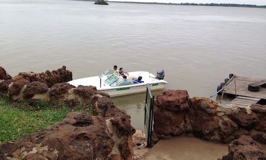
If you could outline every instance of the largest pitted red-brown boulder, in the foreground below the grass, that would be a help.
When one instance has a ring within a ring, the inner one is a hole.
[[[4,143],[0,154],[23,160],[106,160],[114,146],[107,130],[102,117],[72,112],[60,123]]]

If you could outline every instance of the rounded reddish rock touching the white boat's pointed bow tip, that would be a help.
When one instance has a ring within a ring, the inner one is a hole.
[[[56,83],[50,88],[50,95],[52,96],[60,96],[68,92],[69,89],[74,88],[74,85],[71,85],[67,82]]]

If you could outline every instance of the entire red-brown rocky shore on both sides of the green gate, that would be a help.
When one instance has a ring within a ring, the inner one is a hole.
[[[79,103],[93,110],[93,116],[70,112],[46,129],[16,142],[3,142],[0,160],[143,158],[149,151],[146,137],[131,126],[130,116],[119,110],[108,94],[94,86],[75,87],[69,80],[72,73],[65,66],[52,72],[19,73],[13,78],[0,67],[0,96],[30,103]],[[179,135],[230,143],[229,154],[221,160],[266,159],[266,151],[258,143],[266,143],[266,106],[227,108],[208,98],[190,98],[186,90],[166,90],[155,101],[153,145]]]

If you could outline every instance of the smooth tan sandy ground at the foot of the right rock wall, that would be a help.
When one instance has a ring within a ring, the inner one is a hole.
[[[227,144],[202,141],[195,137],[177,136],[160,140],[140,160],[217,160],[227,154]]]

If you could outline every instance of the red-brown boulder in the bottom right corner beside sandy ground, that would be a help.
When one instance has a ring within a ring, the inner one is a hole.
[[[250,136],[241,136],[233,140],[229,146],[229,153],[222,160],[265,160],[266,150]],[[221,159],[218,159],[221,160]]]

